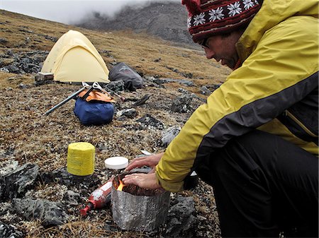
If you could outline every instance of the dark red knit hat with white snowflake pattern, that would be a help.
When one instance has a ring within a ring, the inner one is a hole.
[[[189,11],[187,25],[194,42],[212,35],[231,32],[250,20],[260,9],[262,0],[182,0]]]

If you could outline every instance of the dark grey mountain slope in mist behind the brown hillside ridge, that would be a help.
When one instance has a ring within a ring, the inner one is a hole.
[[[109,18],[95,13],[77,25],[96,30],[125,30],[146,32],[164,40],[193,44],[186,28],[187,12],[180,3],[164,1],[139,8],[127,6]]]

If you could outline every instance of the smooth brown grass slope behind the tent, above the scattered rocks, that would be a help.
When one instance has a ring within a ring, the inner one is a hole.
[[[201,50],[177,47],[176,44],[149,35],[138,35],[130,31],[97,32],[8,11],[0,12],[0,22],[4,23],[0,25],[1,37],[9,40],[5,47],[15,52],[34,49],[50,51],[55,42],[47,40],[45,35],[59,38],[68,30],[78,30],[91,40],[99,52],[110,52],[113,58],[101,53],[109,68],[109,63],[116,59],[117,62],[123,61],[145,75],[184,78],[180,73],[193,73],[193,79],[198,86],[220,83],[230,73],[229,69],[220,66],[216,61],[207,60]],[[30,39],[28,43],[27,37]],[[1,51],[4,51],[5,47],[1,47]],[[159,62],[154,61],[159,58]],[[180,73],[167,67],[178,69]],[[0,77],[3,85],[6,77]]]

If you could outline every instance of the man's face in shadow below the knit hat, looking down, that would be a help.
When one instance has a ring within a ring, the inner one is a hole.
[[[241,33],[231,32],[230,35],[214,35],[206,40],[203,46],[207,59],[216,59],[221,64],[234,69],[238,61],[235,44],[239,40]]]

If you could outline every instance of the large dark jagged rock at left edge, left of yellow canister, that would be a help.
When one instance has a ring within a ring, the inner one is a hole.
[[[0,179],[0,197],[6,200],[23,196],[35,184],[38,172],[38,165],[26,163],[13,172],[4,175]]]

